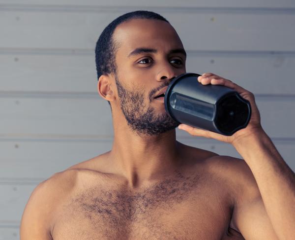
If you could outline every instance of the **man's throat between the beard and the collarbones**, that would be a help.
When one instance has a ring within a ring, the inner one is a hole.
[[[168,137],[171,139],[171,136],[163,136],[163,139]],[[126,151],[129,144],[131,149]],[[175,171],[183,164],[183,160],[178,157],[176,141],[151,139],[133,144],[131,140],[129,144],[125,145],[124,150],[114,148],[106,164],[112,173],[123,180],[125,186],[135,191],[175,175]],[[134,146],[138,146],[137,149]]]

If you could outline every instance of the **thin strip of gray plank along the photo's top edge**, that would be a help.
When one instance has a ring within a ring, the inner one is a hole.
[[[77,6],[152,6],[152,7],[295,7],[293,0],[0,0],[0,4],[77,5]]]

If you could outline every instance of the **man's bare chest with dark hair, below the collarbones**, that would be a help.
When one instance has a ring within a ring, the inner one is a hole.
[[[92,188],[60,208],[53,239],[226,239],[231,206],[226,194],[209,189],[174,180],[135,194]]]

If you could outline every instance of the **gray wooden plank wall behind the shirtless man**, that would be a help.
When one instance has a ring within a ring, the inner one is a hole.
[[[111,149],[94,47],[113,19],[140,9],[176,28],[187,72],[214,72],[255,94],[266,133],[295,170],[294,0],[0,0],[0,240],[19,239],[40,181]],[[240,157],[178,130],[177,140]]]

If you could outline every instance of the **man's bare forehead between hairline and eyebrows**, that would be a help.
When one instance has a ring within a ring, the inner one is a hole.
[[[156,48],[169,51],[183,48],[176,30],[167,22],[150,19],[132,19],[119,24],[113,34],[118,41],[117,55],[128,55],[135,48]]]

